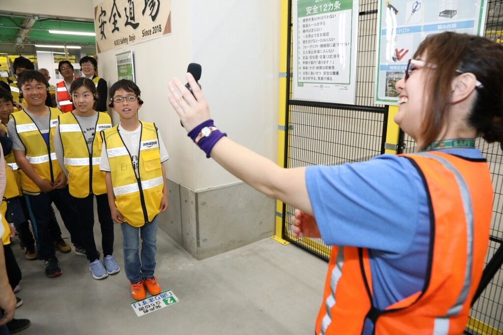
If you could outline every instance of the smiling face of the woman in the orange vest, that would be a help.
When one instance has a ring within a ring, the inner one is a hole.
[[[428,63],[426,54],[417,59]],[[425,119],[427,106],[425,88],[428,70],[425,67],[413,65],[407,80],[402,78],[396,83],[396,89],[400,94],[398,113],[395,115],[394,121],[416,142],[421,142],[421,126]]]

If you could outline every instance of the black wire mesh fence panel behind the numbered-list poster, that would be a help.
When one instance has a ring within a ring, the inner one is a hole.
[[[355,105],[291,100],[293,78],[290,75],[285,167],[364,161],[384,152],[387,108],[374,104],[377,7],[378,2],[370,0],[361,1],[359,5]],[[293,72],[292,36],[291,30],[290,73]],[[328,260],[330,249],[321,238],[296,239],[291,236],[293,211],[294,208],[284,205],[283,238]]]

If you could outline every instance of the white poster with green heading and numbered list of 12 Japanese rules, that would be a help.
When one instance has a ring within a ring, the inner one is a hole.
[[[358,1],[296,0],[293,99],[354,104]]]

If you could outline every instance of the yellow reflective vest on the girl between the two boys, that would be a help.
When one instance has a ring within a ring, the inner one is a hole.
[[[112,128],[112,120],[105,113],[98,113],[92,152],[73,113],[59,116],[59,134],[63,145],[64,166],[68,170],[68,187],[75,198],[85,198],[91,193],[107,193],[105,172],[100,171],[103,140],[97,133]]]

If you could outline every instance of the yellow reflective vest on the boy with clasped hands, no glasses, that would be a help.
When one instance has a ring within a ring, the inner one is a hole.
[[[54,180],[62,173],[61,167],[54,152],[54,130],[58,124],[58,116],[63,113],[57,108],[50,108],[49,145],[46,145],[40,130],[32,118],[25,112],[19,111],[11,114],[14,118],[16,131],[26,150],[26,158],[32,164],[35,172],[48,182]],[[39,193],[39,187],[21,171],[21,189],[24,193]]]

